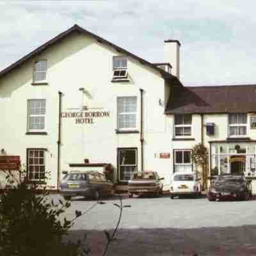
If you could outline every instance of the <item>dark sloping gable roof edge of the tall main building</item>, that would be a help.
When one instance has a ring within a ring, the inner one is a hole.
[[[154,70],[158,71],[161,74],[161,76],[163,76],[164,79],[168,79],[169,81],[172,81],[175,84],[180,84],[180,86],[182,86],[179,79],[177,79],[177,77],[173,76],[172,74],[170,74],[168,72],[165,72],[163,69],[157,67],[156,65],[154,65],[154,64],[152,64],[152,63],[150,63],[150,62],[148,62],[148,61],[146,61],[146,60],[144,60],[144,59],[142,59],[138,56],[136,56],[135,54],[132,54],[129,51],[126,51],[125,49],[109,42],[108,40],[105,40],[104,38],[101,38],[100,36],[97,36],[97,35],[91,33],[90,31],[81,28],[77,24],[72,26],[70,29],[67,29],[63,33],[60,33],[60,35],[55,36],[54,38],[52,38],[51,40],[49,40],[45,44],[41,45],[40,47],[36,48],[34,51],[32,51],[29,54],[27,54],[26,56],[22,57],[20,60],[16,61],[15,63],[10,65],[9,67],[4,68],[4,70],[1,70],[0,77],[3,77],[5,74],[10,72],[14,68],[19,67],[22,63],[24,63],[24,61],[28,60],[29,58],[31,58],[33,56],[36,56],[36,54],[39,54],[40,52],[44,51],[49,46],[55,44],[56,42],[60,42],[65,36],[70,35],[74,31],[76,31],[77,33],[83,33],[83,35],[92,36],[99,43],[109,45],[109,46],[113,47],[117,52],[121,52],[121,53],[125,54],[126,56],[131,56],[132,58],[140,61],[140,63],[142,63],[143,65],[147,65],[148,67],[151,67]]]

